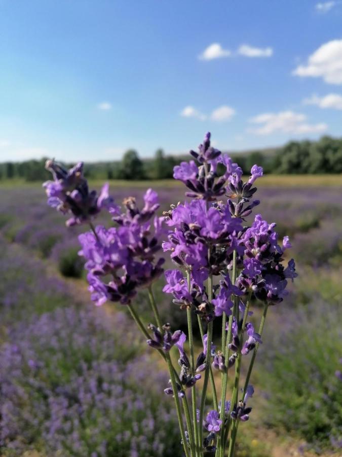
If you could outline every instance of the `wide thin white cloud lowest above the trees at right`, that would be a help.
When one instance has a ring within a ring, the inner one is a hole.
[[[288,134],[307,134],[324,132],[328,126],[324,123],[309,124],[305,114],[293,111],[279,113],[264,113],[250,119],[253,124],[263,124],[258,128],[250,129],[256,135],[271,135],[276,132]]]

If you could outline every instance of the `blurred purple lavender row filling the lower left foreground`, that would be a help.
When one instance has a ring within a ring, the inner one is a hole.
[[[41,262],[0,249],[0,454],[180,455],[167,379],[126,316],[72,305]]]

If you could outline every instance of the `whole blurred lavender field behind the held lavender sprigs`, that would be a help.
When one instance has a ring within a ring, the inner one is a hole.
[[[257,413],[237,456],[340,455],[342,179],[272,179],[257,212],[290,236],[298,278],[264,335]],[[112,182],[110,193],[141,202],[146,184]],[[154,188],[161,211],[183,199],[168,181]],[[0,190],[1,455],[182,455],[157,357],[143,355],[125,305],[90,303],[82,228],[66,228],[39,185]],[[162,316],[182,328],[186,316],[155,288]],[[137,302],[144,316],[144,292]]]

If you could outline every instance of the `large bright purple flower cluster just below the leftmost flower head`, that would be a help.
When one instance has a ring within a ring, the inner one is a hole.
[[[161,248],[162,218],[155,216],[153,223],[150,221],[159,208],[157,193],[148,189],[144,202],[139,210],[135,199],[126,199],[126,212],[120,214],[116,210],[113,215],[118,227],[106,229],[98,225],[94,232],[79,236],[80,254],[86,259],[89,290],[97,305],[107,300],[130,303],[137,287],[148,286],[163,272],[164,259],[155,259]],[[108,275],[108,282],[102,280]]]

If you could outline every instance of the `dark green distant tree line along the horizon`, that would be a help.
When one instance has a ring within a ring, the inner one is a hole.
[[[342,173],[342,138],[325,136],[319,141],[290,141],[274,150],[233,153],[231,156],[246,174],[254,164],[263,167],[265,173],[274,174]],[[153,158],[141,159],[136,150],[129,149],[121,161],[86,163],[85,176],[89,179],[168,179],[172,178],[175,165],[190,158],[188,154],[165,155],[163,149],[158,149]],[[0,163],[0,179],[50,179],[44,168],[45,160]]]

